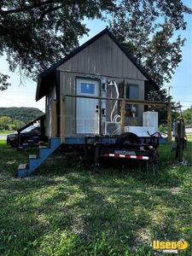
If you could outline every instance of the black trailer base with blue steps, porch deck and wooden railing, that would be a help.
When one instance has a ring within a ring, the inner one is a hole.
[[[50,154],[52,154],[56,148],[62,147],[66,151],[81,151],[84,155],[84,160],[89,164],[94,164],[95,166],[100,166],[100,163],[103,159],[108,160],[125,160],[132,161],[137,160],[138,162],[146,163],[147,171],[155,169],[155,165],[158,163],[159,154],[158,147],[163,142],[160,132],[153,131],[157,129],[156,127],[150,126],[125,126],[125,110],[126,106],[130,104],[146,104],[150,106],[159,106],[167,108],[167,122],[168,127],[172,127],[172,103],[171,102],[150,102],[150,101],[132,101],[125,100],[124,98],[103,98],[99,97],[100,100],[106,101],[119,101],[120,102],[120,119],[119,122],[105,122],[105,125],[114,124],[113,131],[118,130],[119,134],[114,134],[112,131],[110,135],[108,134],[99,134],[99,135],[84,135],[76,137],[65,137],[65,120],[66,120],[66,98],[67,97],[85,97],[87,96],[62,96],[61,100],[61,136],[57,137],[57,122],[54,122],[52,125],[52,136],[48,139],[48,146],[39,146],[38,155],[29,155],[29,161],[26,164],[20,164],[18,167],[18,177],[25,177],[34,172],[38,166],[40,166],[44,160],[46,160]],[[92,100],[95,97],[90,97]],[[52,118],[54,119],[56,114],[56,108],[52,104]],[[103,112],[104,113],[104,112]],[[154,113],[154,112],[153,112]],[[102,119],[102,116],[101,116]],[[118,124],[118,128],[117,125]],[[110,127],[111,128],[111,127]],[[133,133],[131,131],[139,130],[144,131],[144,136],[137,136],[137,132]],[[123,132],[122,132],[123,131]],[[107,130],[105,129],[107,133]],[[168,139],[172,138],[172,129],[169,129]],[[166,141],[167,142],[167,141]],[[163,143],[166,143],[165,141]]]

